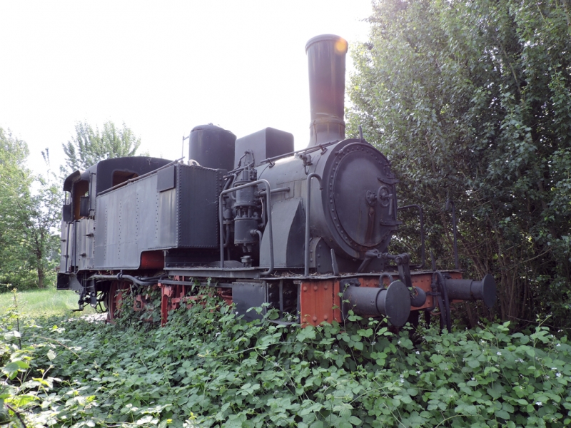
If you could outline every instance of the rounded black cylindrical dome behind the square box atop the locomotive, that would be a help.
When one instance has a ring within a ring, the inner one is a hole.
[[[195,126],[188,143],[188,159],[206,168],[232,170],[235,143],[236,136],[219,126]]]

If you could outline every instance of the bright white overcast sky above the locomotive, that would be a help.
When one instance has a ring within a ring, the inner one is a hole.
[[[370,0],[1,1],[0,126],[28,143],[37,173],[46,147],[52,168],[63,163],[77,121],[125,122],[142,151],[170,159],[210,122],[238,138],[272,126],[303,148],[305,42],[338,34],[351,49],[370,11]]]

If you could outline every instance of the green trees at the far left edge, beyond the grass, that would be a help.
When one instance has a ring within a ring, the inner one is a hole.
[[[53,173],[24,167],[27,156],[26,143],[0,128],[0,282],[44,288],[59,263],[61,192]],[[44,159],[49,165],[47,150]]]

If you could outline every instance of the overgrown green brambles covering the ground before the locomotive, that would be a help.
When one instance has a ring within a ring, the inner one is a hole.
[[[221,302],[148,322],[1,322],[4,421],[54,427],[560,427],[571,346],[508,322],[452,334],[246,323]],[[124,312],[126,314],[127,312]],[[134,317],[138,317],[136,313]],[[126,315],[124,315],[126,316]],[[130,316],[131,320],[133,316]],[[144,318],[144,317],[143,317]]]

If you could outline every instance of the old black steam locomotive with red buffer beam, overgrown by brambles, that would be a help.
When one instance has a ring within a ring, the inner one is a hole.
[[[495,302],[495,281],[463,280],[388,253],[397,233],[398,179],[383,153],[345,138],[344,39],[308,41],[310,142],[266,128],[236,139],[211,124],[189,136],[191,161],[113,158],[64,181],[59,290],[79,309],[102,303],[113,320],[126,292],[138,309],[161,290],[161,315],[191,305],[193,285],[248,311],[267,303],[278,322],[319,325],[350,311],[402,326],[420,311],[450,328],[455,300]],[[438,311],[435,311],[436,308]]]

